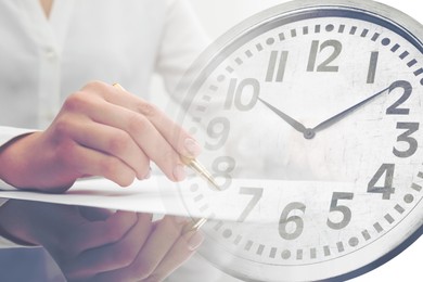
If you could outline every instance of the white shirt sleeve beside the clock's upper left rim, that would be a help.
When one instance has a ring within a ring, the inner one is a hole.
[[[208,43],[209,38],[189,3],[169,0],[156,61],[156,70],[163,77],[168,93],[175,92],[181,77]]]

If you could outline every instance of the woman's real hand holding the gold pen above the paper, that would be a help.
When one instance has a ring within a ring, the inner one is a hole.
[[[0,177],[22,189],[67,190],[76,179],[102,176],[119,185],[150,176],[153,161],[172,181],[185,177],[180,155],[198,144],[156,106],[103,82],[91,82],[65,101],[43,132],[0,151]]]

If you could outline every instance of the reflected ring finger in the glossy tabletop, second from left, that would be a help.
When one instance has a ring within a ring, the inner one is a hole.
[[[114,244],[104,245],[82,253],[68,269],[73,278],[95,275],[95,281],[108,281],[107,273],[126,268],[138,256],[151,233],[152,216],[138,214],[138,221],[126,235]],[[104,272],[104,273],[103,273]],[[121,281],[121,280],[110,280]]]

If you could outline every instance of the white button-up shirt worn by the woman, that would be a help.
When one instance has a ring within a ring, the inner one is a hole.
[[[156,72],[171,92],[207,43],[200,26],[184,0],[54,0],[49,20],[38,0],[0,1],[0,145],[91,80],[149,99]]]

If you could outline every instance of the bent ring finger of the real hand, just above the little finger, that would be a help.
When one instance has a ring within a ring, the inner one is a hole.
[[[138,179],[150,175],[149,157],[126,131],[91,120],[77,129],[70,134],[79,144],[119,158],[136,171]]]

